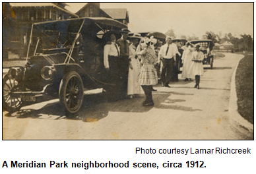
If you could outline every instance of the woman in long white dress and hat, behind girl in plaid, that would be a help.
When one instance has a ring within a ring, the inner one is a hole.
[[[139,84],[139,74],[141,73],[141,63],[137,59],[136,49],[139,40],[141,40],[140,34],[133,34],[129,36],[131,45],[129,45],[129,72],[128,72],[128,91],[127,94],[130,98],[133,98],[139,94],[143,94],[143,89]],[[129,39],[128,38],[128,39]]]

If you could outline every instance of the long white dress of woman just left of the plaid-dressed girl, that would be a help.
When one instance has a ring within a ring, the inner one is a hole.
[[[135,45],[131,44],[129,46],[129,59],[131,59],[131,65],[133,69],[129,67],[128,72],[128,95],[133,94],[143,94],[143,88],[139,84],[139,75],[141,73],[141,63],[139,59],[135,59],[136,55],[136,47]]]

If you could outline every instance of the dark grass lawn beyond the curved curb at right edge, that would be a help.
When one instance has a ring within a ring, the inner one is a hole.
[[[238,113],[253,124],[253,55],[245,54],[236,71]]]

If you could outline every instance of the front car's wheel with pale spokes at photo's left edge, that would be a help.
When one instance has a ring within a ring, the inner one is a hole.
[[[3,108],[10,113],[20,110],[22,107],[21,96],[13,94],[13,92],[22,91],[18,86],[18,82],[9,78],[6,74],[3,78]]]

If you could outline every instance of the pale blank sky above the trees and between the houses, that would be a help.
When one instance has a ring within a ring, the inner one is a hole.
[[[86,3],[67,4],[67,9],[76,13]],[[212,31],[253,38],[253,3],[100,3],[100,8],[127,9],[131,32],[166,33],[173,29],[177,37],[195,34],[202,38]]]

